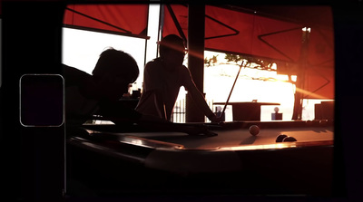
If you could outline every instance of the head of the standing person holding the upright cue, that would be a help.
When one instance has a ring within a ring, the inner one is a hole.
[[[162,38],[159,48],[162,60],[171,65],[181,65],[187,53],[184,41],[175,34]]]

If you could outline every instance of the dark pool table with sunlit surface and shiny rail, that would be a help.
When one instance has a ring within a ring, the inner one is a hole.
[[[137,125],[83,125],[67,139],[70,193],[76,192],[72,182],[77,181],[99,195],[331,195],[330,120],[185,125],[202,125],[215,135],[152,131]],[[250,134],[251,125],[259,126],[258,135]],[[276,142],[280,134],[297,141]]]

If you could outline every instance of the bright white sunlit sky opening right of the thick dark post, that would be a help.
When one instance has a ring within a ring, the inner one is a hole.
[[[235,63],[227,63],[224,59],[224,53],[205,53],[207,58],[211,58],[212,55],[218,55],[217,60],[220,64],[204,68],[206,100],[224,102],[227,101],[240,66]],[[276,71],[261,71],[242,67],[231,93],[230,101],[278,102],[280,103],[278,106],[280,112],[284,113],[283,119],[290,120],[294,91],[293,84],[288,81],[288,75],[280,75]],[[271,120],[271,113],[274,112],[275,107],[277,106],[262,106],[261,120]],[[227,107],[226,110],[226,120],[232,120],[230,107]]]

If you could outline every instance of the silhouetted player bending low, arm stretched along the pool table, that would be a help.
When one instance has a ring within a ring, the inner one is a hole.
[[[199,134],[201,129],[175,127],[170,121],[142,114],[119,101],[139,76],[133,57],[109,48],[101,53],[91,74],[63,64],[65,120],[69,129],[81,126],[93,115],[101,115],[116,125],[138,122],[146,127]]]

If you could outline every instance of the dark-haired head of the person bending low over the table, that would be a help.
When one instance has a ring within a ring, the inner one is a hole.
[[[136,81],[139,67],[130,54],[110,48],[101,53],[92,73],[103,97],[117,100]]]

